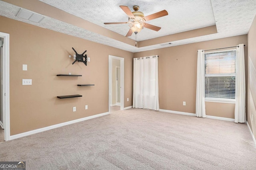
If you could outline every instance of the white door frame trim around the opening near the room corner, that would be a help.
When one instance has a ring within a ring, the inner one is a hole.
[[[120,110],[124,109],[124,58],[108,55],[108,112],[110,111],[110,104],[112,103],[112,59],[120,60]]]

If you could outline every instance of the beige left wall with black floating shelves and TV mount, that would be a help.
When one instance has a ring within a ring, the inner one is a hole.
[[[10,133],[15,135],[108,111],[108,55],[124,57],[124,107],[132,106],[133,53],[0,16],[10,34]],[[68,55],[86,54],[87,66]],[[22,71],[22,64],[28,71]],[[61,77],[56,74],[82,74]],[[22,86],[32,79],[32,86]],[[77,86],[95,84],[95,86]],[[81,94],[80,98],[56,96]],[[85,110],[88,105],[88,110]],[[72,108],[76,106],[76,112]]]

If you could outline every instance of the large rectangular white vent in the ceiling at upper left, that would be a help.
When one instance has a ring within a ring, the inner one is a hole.
[[[20,8],[20,11],[16,16],[37,23],[40,23],[45,18],[40,14],[36,14],[32,11],[24,10],[22,8]]]

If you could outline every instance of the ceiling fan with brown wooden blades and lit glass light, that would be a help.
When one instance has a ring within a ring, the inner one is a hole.
[[[130,30],[126,34],[126,37],[129,37],[132,35],[132,33],[139,33],[142,28],[146,27],[148,29],[152,29],[154,31],[159,31],[161,27],[157,27],[155,25],[151,25],[149,23],[145,23],[145,21],[153,20],[156,18],[160,18],[163,16],[167,16],[168,12],[166,10],[162,10],[160,12],[156,12],[154,14],[151,14],[149,16],[144,16],[144,14],[139,10],[139,6],[133,6],[134,12],[131,12],[131,10],[128,8],[128,6],[120,6],[120,8],[128,15],[129,19],[128,22],[105,22],[104,24],[122,24],[122,23],[128,23],[130,26]]]

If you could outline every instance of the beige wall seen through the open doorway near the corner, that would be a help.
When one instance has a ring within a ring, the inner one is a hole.
[[[116,104],[116,66],[120,66],[120,60],[112,59],[112,104]]]

